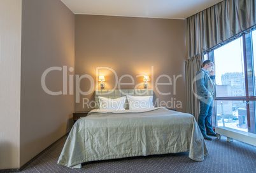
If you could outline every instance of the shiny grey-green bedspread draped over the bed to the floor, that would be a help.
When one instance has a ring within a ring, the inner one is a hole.
[[[208,155],[196,120],[188,113],[148,110],[92,110],[77,120],[58,163],[80,168],[81,163],[134,156],[189,151],[192,160]]]

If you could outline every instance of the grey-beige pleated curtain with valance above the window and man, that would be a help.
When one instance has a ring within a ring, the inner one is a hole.
[[[256,24],[255,0],[225,0],[190,16],[187,25],[187,56],[185,65],[186,111],[196,118],[199,103],[194,96],[192,81],[203,63],[203,53],[239,37]]]

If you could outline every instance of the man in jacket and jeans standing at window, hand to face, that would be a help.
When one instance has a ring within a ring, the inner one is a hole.
[[[203,62],[203,68],[196,74],[197,98],[200,102],[198,125],[204,139],[211,140],[208,136],[217,136],[211,127],[211,113],[213,110],[213,95],[215,91],[215,74],[213,61]],[[205,131],[206,130],[206,131]]]

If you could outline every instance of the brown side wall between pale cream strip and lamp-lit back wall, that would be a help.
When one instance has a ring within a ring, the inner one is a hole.
[[[23,0],[21,53],[20,165],[24,165],[73,125],[74,96],[46,94],[41,76],[50,67],[74,67],[75,15],[59,0]],[[63,91],[62,73],[63,69],[46,75],[50,91]]]

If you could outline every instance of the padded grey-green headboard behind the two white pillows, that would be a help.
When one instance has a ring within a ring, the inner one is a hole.
[[[99,108],[99,96],[104,98],[116,99],[126,95],[131,96],[153,96],[153,89],[101,89],[94,92],[94,100],[96,101],[96,109]],[[125,110],[129,109],[129,104],[126,99]]]

